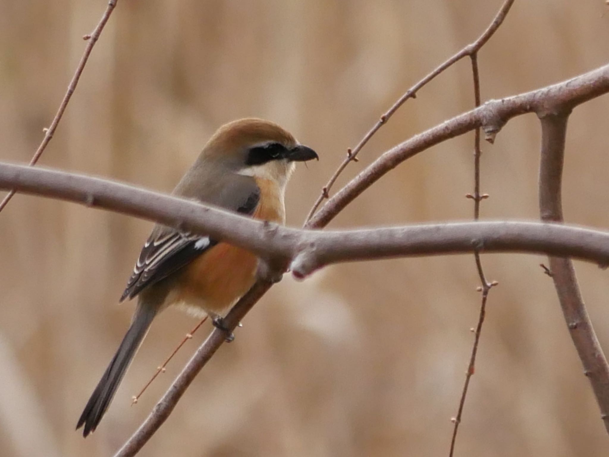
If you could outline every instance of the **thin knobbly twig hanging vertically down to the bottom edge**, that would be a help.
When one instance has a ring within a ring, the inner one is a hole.
[[[481,103],[481,97],[477,52],[471,54],[470,58],[471,73],[474,82],[474,101],[476,103],[476,107],[479,107]],[[477,221],[478,219],[480,219],[480,202],[484,199],[487,199],[488,194],[480,193],[480,157],[482,155],[482,149],[480,147],[480,127],[476,128],[474,135],[474,193],[467,194],[466,197],[474,200],[474,220]],[[482,292],[482,300],[480,303],[478,324],[476,325],[475,330],[472,329],[474,331],[474,344],[471,348],[470,364],[467,367],[467,372],[465,374],[465,383],[463,384],[463,390],[461,391],[459,409],[457,410],[457,416],[452,418],[452,423],[454,423],[454,427],[452,428],[451,448],[448,454],[449,457],[452,457],[452,455],[454,455],[455,444],[457,441],[457,432],[459,431],[459,424],[461,423],[461,417],[463,416],[463,408],[465,407],[465,399],[467,397],[468,388],[470,387],[471,377],[473,376],[475,371],[476,355],[478,353],[478,345],[480,343],[480,335],[482,333],[482,324],[484,324],[484,318],[486,316],[487,311],[488,291],[490,291],[491,287],[497,285],[497,282],[495,281],[493,281],[492,283],[489,283],[487,281],[487,277],[484,274],[484,269],[482,268],[480,252],[478,250],[474,252],[474,260],[476,261],[476,269],[478,272],[478,276],[480,277],[480,282],[482,283],[482,285],[478,288],[478,290]]]

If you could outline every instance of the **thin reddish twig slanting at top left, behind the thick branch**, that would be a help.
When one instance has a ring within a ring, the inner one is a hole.
[[[107,6],[104,14],[102,15],[102,18],[99,20],[97,27],[95,27],[95,30],[93,30],[93,32],[91,32],[90,35],[83,36],[83,40],[88,41],[85,46],[85,52],[83,52],[82,57],[80,57],[80,62],[78,64],[78,66],[76,67],[76,72],[74,73],[74,76],[72,76],[72,80],[70,81],[70,83],[68,85],[68,91],[66,91],[66,94],[63,96],[63,100],[62,100],[61,104],[59,105],[57,113],[55,114],[55,117],[53,118],[53,120],[51,122],[51,125],[48,128],[44,129],[44,138],[43,138],[42,142],[40,143],[40,146],[38,146],[38,149],[32,156],[32,159],[30,160],[30,166],[36,165],[38,159],[44,152],[44,149],[46,149],[46,146],[49,144],[49,141],[51,141],[51,138],[53,138],[53,135],[55,133],[55,130],[57,129],[59,121],[62,120],[63,113],[65,112],[66,108],[68,107],[68,102],[70,101],[72,94],[74,93],[74,90],[76,90],[76,85],[79,82],[80,75],[82,74],[83,69],[85,69],[86,61],[89,59],[89,56],[91,55],[91,51],[93,51],[93,46],[95,46],[95,43],[99,39],[99,35],[102,33],[102,30],[104,30],[104,26],[108,22],[108,19],[110,19],[110,15],[112,14],[112,12],[114,10],[114,7],[116,6],[117,1],[118,0],[108,1],[108,6]],[[9,193],[6,194],[4,199],[2,199],[2,202],[0,202],[0,211],[4,210],[4,207],[7,204],[9,204],[10,199],[12,199],[14,195],[15,195],[15,190],[11,189],[9,191]]]

